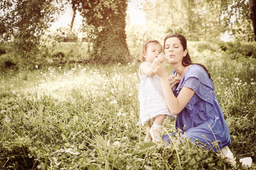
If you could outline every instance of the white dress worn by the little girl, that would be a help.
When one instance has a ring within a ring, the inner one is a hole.
[[[149,62],[142,62],[149,64]],[[176,118],[171,115],[166,101],[164,99],[164,91],[161,87],[161,80],[156,74],[153,77],[142,76],[141,67],[139,66],[139,125],[146,123],[156,115],[167,115],[168,118]]]

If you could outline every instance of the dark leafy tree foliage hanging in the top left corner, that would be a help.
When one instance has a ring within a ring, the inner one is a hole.
[[[54,21],[52,0],[22,0],[0,2],[0,37],[13,42],[15,50],[28,57],[40,43],[41,35]]]

